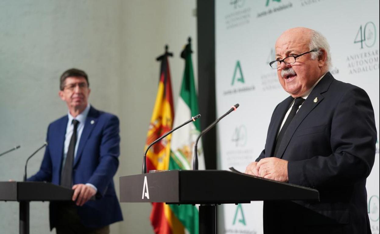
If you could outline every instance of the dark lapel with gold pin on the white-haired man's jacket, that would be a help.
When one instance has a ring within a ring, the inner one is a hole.
[[[330,74],[330,72],[326,73],[325,77],[323,77],[320,82],[314,87],[313,91],[309,94],[307,99],[301,105],[301,108],[298,110],[297,114],[294,116],[294,119],[290,122],[288,129],[286,130],[282,141],[280,143],[279,152],[276,157],[282,158],[285,149],[287,148],[290,139],[293,137],[294,132],[297,130],[299,124],[306,118],[307,115],[319,105],[324,97],[322,93],[328,90],[332,80],[334,78]]]

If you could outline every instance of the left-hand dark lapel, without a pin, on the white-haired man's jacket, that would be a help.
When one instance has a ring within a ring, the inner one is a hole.
[[[272,157],[274,153],[274,147],[275,147],[275,142],[277,139],[277,132],[279,131],[280,125],[282,123],[282,120],[288,111],[291,102],[293,101],[293,97],[289,96],[287,99],[283,101],[278,107],[277,110],[275,110],[275,113],[273,114],[273,121],[272,124],[269,126],[268,129],[268,154],[266,154],[266,157]]]

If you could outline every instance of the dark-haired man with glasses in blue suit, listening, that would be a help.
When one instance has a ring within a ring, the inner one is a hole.
[[[63,72],[59,96],[68,113],[49,125],[41,168],[28,179],[74,190],[72,202],[50,204],[57,234],[109,233],[109,224],[123,219],[112,180],[119,166],[119,119],[93,108],[90,91],[86,72]]]

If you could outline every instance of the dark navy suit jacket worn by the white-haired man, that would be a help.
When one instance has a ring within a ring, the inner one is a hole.
[[[367,93],[328,72],[315,86],[273,155],[288,97],[275,108],[264,157],[288,160],[289,182],[316,188],[320,202],[264,202],[265,233],[370,233],[366,178],[375,160],[376,127]]]

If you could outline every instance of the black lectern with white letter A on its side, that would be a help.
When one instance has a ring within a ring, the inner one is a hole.
[[[318,200],[317,190],[220,170],[163,171],[120,177],[120,202],[201,204],[199,233],[216,233],[217,204]]]

